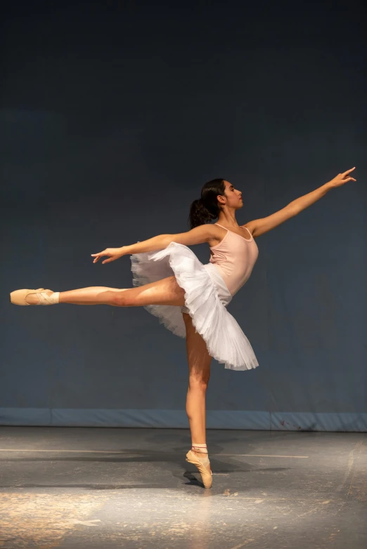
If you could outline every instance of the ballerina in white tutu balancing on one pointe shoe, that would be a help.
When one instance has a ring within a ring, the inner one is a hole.
[[[354,170],[340,173],[318,189],[305,194],[285,208],[262,219],[238,225],[236,211],[243,207],[242,193],[223,179],[202,187],[201,198],[190,209],[191,230],[179,234],[160,234],[144,242],[93,253],[93,263],[131,255],[134,288],[92,286],[72,291],[53,292],[16,290],[15,305],[115,305],[143,306],[160,318],[167,329],[186,337],[188,356],[188,393],[186,413],[191,430],[191,450],[186,461],[194,463],[206,488],[212,486],[212,471],[205,437],[205,392],[212,357],[225,367],[246,370],[258,366],[249,340],[226,310],[238,290],[247,282],[258,256],[255,238],[314,204],[333,187],[355,181]],[[219,223],[210,223],[218,218]],[[187,246],[207,242],[210,262],[202,265]],[[154,252],[154,253],[151,253]]]

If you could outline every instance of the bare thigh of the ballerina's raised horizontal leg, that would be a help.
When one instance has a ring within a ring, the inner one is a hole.
[[[144,286],[115,292],[116,305],[140,307],[144,305],[185,305],[185,291],[177,284],[176,277],[167,277]]]

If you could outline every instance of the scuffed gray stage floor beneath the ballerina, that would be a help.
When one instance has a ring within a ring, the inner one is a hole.
[[[0,547],[366,549],[367,434],[0,427]]]

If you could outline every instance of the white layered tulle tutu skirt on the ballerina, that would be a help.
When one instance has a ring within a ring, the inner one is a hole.
[[[205,340],[209,354],[225,364],[226,369],[250,370],[259,366],[250,341],[236,319],[226,310],[232,296],[212,263],[203,265],[187,246],[171,242],[163,250],[132,255],[131,271],[134,286],[172,275],[176,277],[179,286],[185,291],[185,307],[145,307],[176,336],[186,336],[182,317],[184,310],[193,319],[195,330]]]

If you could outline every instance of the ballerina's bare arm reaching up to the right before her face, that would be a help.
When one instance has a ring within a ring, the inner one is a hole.
[[[354,169],[355,168],[352,168],[344,173],[339,173],[334,179],[330,180],[328,183],[325,183],[325,185],[321,185],[318,189],[293,200],[290,204],[285,206],[285,208],[272,213],[271,216],[261,219],[254,219],[249,223],[246,223],[245,226],[252,233],[254,238],[259,237],[260,234],[264,234],[264,232],[269,232],[272,229],[275,229],[275,227],[278,227],[281,223],[297,216],[297,214],[302,210],[308,208],[311,204],[314,204],[314,202],[321,199],[321,197],[325,196],[330,189],[340,187],[341,185],[347,183],[347,181],[355,181],[354,178],[349,176],[349,173],[351,173]]]

